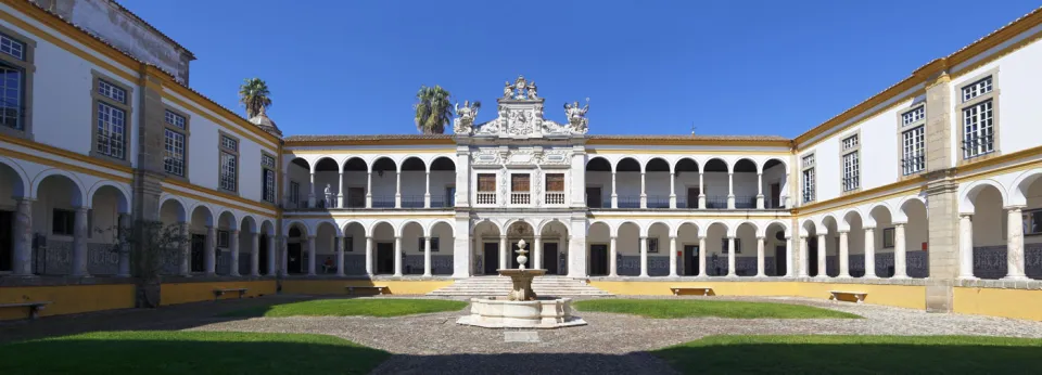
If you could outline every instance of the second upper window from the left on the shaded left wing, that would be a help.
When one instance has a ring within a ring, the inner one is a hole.
[[[124,159],[127,152],[127,90],[98,79],[97,134],[94,152]]]

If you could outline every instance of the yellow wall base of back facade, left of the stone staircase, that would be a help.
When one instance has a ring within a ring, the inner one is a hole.
[[[452,280],[285,280],[282,293],[306,295],[346,295],[345,286],[386,286],[384,294],[425,295],[435,289],[453,285]]]

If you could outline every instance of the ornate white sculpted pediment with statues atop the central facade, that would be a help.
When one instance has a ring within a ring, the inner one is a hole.
[[[566,103],[569,122],[555,122],[543,117],[545,100],[538,96],[535,82],[518,77],[512,85],[508,81],[504,86],[503,96],[496,100],[498,116],[495,119],[474,125],[479,106],[465,102],[462,107],[457,104],[453,130],[458,135],[514,139],[585,134],[588,101],[585,107],[580,107],[579,102]]]

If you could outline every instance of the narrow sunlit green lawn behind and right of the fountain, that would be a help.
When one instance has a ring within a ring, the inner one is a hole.
[[[701,299],[590,299],[577,301],[582,311],[618,312],[648,318],[861,318],[852,313],[802,305]]]

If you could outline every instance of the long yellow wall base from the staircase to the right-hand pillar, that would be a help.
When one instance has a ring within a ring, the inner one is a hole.
[[[800,282],[640,282],[592,281],[589,285],[619,296],[672,296],[670,287],[711,287],[717,296],[808,297],[828,299],[829,290],[863,292],[865,303],[926,309],[926,287],[913,285]]]

